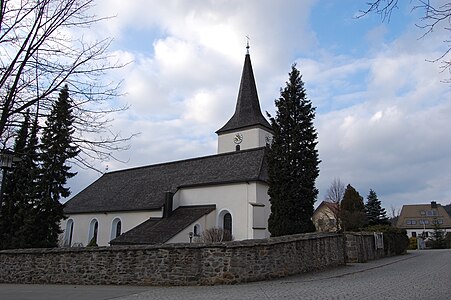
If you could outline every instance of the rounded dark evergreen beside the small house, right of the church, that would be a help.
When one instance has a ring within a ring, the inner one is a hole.
[[[367,223],[363,197],[350,184],[346,187],[341,201],[340,219],[345,231],[359,230]]]

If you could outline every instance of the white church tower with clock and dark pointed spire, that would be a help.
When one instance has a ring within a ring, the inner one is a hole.
[[[222,128],[216,131],[218,153],[263,147],[272,138],[271,125],[260,109],[249,45],[246,48],[235,113]]]

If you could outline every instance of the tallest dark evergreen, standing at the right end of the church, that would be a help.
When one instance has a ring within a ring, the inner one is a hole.
[[[272,236],[312,232],[313,204],[318,195],[315,180],[320,163],[313,126],[315,108],[307,99],[295,64],[275,104],[276,116],[269,116],[274,137],[267,152],[269,231]]]

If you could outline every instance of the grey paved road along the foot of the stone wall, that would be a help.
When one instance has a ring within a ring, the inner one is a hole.
[[[411,251],[363,264],[240,285],[0,284],[0,299],[451,299],[451,250]]]

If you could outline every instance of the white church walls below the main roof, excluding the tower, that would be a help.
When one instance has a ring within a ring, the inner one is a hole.
[[[232,235],[235,240],[269,237],[267,220],[270,203],[268,186],[261,182],[244,182],[213,186],[201,186],[179,189],[173,198],[173,210],[179,206],[215,204],[216,210],[203,216],[185,230],[171,238],[168,243],[189,242],[189,232],[199,225],[200,232],[212,227],[223,227],[225,213],[232,216]],[[149,218],[163,217],[162,210],[142,212],[113,212],[98,214],[73,214],[61,224],[64,244],[68,244],[72,223],[71,245],[86,246],[93,236],[92,222],[98,222],[97,245],[108,246],[114,236],[114,221],[121,221],[121,233],[138,226]]]

